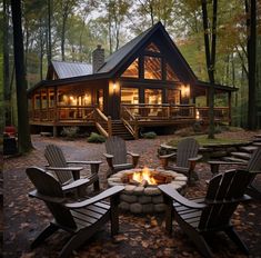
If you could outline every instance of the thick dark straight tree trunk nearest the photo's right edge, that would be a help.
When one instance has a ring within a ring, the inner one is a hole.
[[[247,30],[248,30],[248,61],[249,61],[249,108],[248,127],[250,130],[257,129],[255,109],[255,68],[257,68],[257,3],[250,0],[250,7],[245,1]]]

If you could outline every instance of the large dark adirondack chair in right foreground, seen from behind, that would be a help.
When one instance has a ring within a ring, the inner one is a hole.
[[[250,199],[244,195],[250,180],[251,175],[245,170],[230,170],[217,175],[210,180],[207,196],[194,200],[182,197],[171,185],[159,186],[168,207],[168,232],[172,232],[174,218],[204,257],[213,257],[205,239],[218,231],[224,231],[243,252],[249,254],[230,219],[239,202]]]

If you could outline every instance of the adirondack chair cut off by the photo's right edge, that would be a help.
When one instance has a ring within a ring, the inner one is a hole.
[[[220,165],[239,165],[244,168],[247,171],[251,172],[252,178],[248,186],[247,194],[253,197],[254,199],[261,199],[261,187],[257,183],[257,176],[261,173],[261,147],[258,148],[251,156],[250,160],[247,163],[242,162],[231,162],[222,160],[210,160],[209,165],[211,167],[211,172],[217,175],[219,172]]]

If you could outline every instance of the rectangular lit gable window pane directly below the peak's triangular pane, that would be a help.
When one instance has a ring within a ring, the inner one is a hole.
[[[144,57],[144,79],[162,79],[161,58]]]

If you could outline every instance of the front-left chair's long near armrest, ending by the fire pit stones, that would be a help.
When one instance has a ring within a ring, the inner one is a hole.
[[[103,192],[101,192],[90,199],[79,201],[79,202],[73,202],[73,204],[64,204],[64,207],[67,207],[69,209],[80,209],[80,208],[87,207],[89,205],[93,205],[98,201],[101,201],[106,198],[118,195],[119,192],[121,192],[123,190],[124,190],[123,186],[116,186],[116,187],[112,187],[112,188],[104,190]]]

